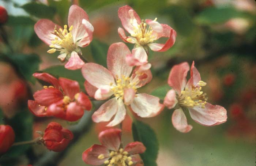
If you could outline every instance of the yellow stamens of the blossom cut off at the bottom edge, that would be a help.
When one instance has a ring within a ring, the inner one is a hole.
[[[110,158],[104,161],[106,166],[127,166],[132,165],[132,158],[129,156],[127,151],[120,148],[118,151],[111,151],[109,154]],[[104,159],[105,156],[100,154],[98,159]]]

